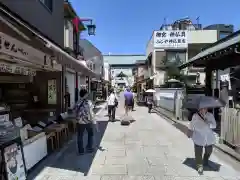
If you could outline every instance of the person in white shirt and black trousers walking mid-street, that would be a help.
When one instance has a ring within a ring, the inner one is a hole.
[[[107,104],[108,104],[108,117],[109,117],[109,121],[114,121],[115,120],[115,113],[116,113],[116,107],[118,105],[118,100],[117,100],[117,96],[114,93],[114,89],[111,89],[109,91],[109,96],[107,99]]]

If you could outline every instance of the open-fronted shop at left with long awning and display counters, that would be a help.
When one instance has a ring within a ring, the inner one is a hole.
[[[25,5],[22,9],[30,8]],[[57,8],[53,7],[53,10],[58,11]],[[61,9],[64,9],[63,3]],[[59,15],[60,19],[64,18],[63,14]],[[42,17],[38,14],[36,21]],[[64,32],[64,24],[60,29],[55,28],[56,32]],[[0,169],[5,179],[8,176],[26,179],[28,170],[69,139],[70,126],[58,121],[59,115],[66,111],[66,69],[95,76],[67,53],[59,45],[60,41],[52,40],[50,36],[14,13],[11,6],[0,3]],[[19,127],[21,138],[13,124]],[[14,172],[8,169],[10,156],[20,164]]]

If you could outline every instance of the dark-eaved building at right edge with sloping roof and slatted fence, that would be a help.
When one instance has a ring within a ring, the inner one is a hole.
[[[209,45],[188,62],[179,66],[180,69],[191,66],[204,68],[205,94],[218,97],[226,103],[221,110],[214,109],[220,142],[237,152],[240,152],[239,47],[240,31],[236,31]],[[231,151],[228,152],[231,154]]]

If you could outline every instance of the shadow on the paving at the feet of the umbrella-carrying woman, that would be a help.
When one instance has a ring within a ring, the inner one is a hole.
[[[194,158],[186,158],[185,161],[183,162],[184,165],[192,168],[192,169],[196,169],[196,163],[195,163],[195,159]],[[221,165],[213,162],[211,160],[209,160],[209,166],[208,167],[204,167],[204,171],[215,171],[218,172],[220,170]]]

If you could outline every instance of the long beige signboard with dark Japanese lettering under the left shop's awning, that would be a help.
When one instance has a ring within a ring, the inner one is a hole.
[[[53,59],[21,41],[0,32],[0,53],[41,66],[53,66]]]

